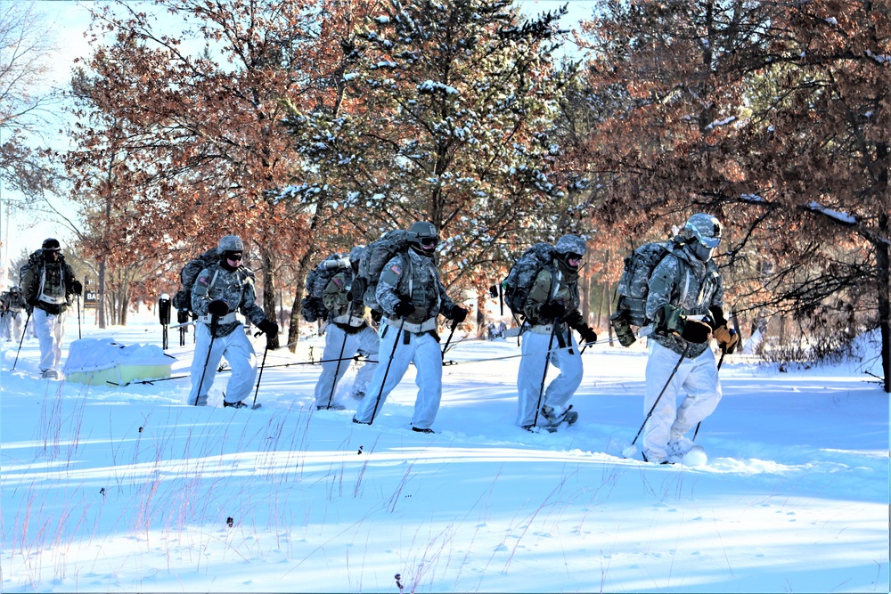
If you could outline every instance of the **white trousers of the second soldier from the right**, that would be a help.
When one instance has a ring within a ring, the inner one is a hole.
[[[541,404],[552,408],[563,407],[582,383],[582,355],[579,354],[576,338],[569,332],[571,348],[560,348],[557,338],[551,342],[550,334],[523,333],[521,351],[523,357],[519,362],[517,374],[518,410],[517,425],[528,427],[535,423],[535,411]],[[551,364],[560,370],[560,375],[544,388],[542,394],[542,378],[544,378],[544,362],[547,361],[548,346],[552,344]],[[570,351],[572,351],[570,353]],[[541,414],[538,424],[546,423]]]

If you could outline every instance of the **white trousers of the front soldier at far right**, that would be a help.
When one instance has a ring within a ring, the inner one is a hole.
[[[644,414],[650,412],[680,358],[681,355],[650,340]],[[678,404],[677,396],[682,393],[683,399]],[[672,436],[684,435],[696,427],[715,411],[720,400],[721,383],[712,349],[707,348],[695,359],[685,358],[644,427],[643,452],[647,458],[666,460],[666,447]]]

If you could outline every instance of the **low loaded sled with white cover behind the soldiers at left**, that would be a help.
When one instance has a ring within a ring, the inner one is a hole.
[[[127,386],[170,377],[176,357],[155,345],[119,345],[114,339],[81,338],[69,346],[65,379],[90,386]]]

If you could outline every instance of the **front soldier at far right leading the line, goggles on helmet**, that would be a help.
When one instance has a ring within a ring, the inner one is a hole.
[[[721,273],[712,260],[722,231],[715,216],[691,216],[683,228],[683,243],[650,275],[647,317],[655,323],[643,408],[644,412],[652,409],[652,415],[644,427],[643,457],[653,463],[683,460],[693,445],[686,434],[715,411],[721,400],[715,354],[708,348],[708,339],[714,335],[728,353],[739,340],[727,328]],[[678,404],[675,400],[682,393]]]

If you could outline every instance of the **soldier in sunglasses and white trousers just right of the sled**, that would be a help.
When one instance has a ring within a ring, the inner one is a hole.
[[[256,303],[254,273],[241,265],[244,245],[237,235],[225,235],[217,246],[219,261],[198,273],[192,287],[195,324],[195,355],[192,359],[192,390],[188,403],[205,406],[217,366],[225,357],[232,375],[223,393],[223,406],[236,409],[250,394],[257,377],[257,354],[243,330],[246,316],[266,334],[267,345],[278,335],[278,324],[266,319]]]

